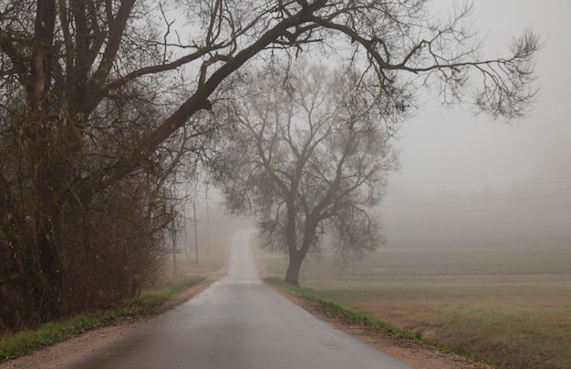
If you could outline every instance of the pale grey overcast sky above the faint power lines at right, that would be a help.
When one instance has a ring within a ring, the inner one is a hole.
[[[427,102],[401,130],[401,169],[389,190],[571,179],[571,1],[475,0],[472,20],[487,36],[488,56],[501,55],[526,27],[541,36],[535,109],[505,125]]]

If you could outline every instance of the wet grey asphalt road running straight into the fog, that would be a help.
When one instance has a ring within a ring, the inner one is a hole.
[[[265,286],[252,232],[234,235],[227,277],[69,368],[412,369]]]

